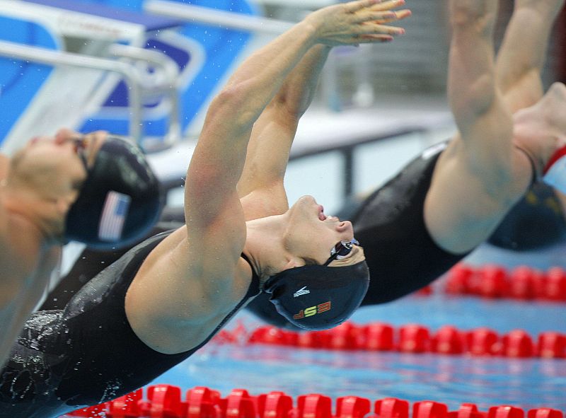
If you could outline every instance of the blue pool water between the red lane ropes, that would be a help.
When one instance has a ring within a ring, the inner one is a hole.
[[[480,298],[408,296],[381,306],[361,308],[352,322],[386,322],[395,327],[442,325],[460,330],[487,326],[503,334],[520,328],[533,338],[543,331],[566,333],[566,305]],[[231,326],[261,325],[247,313]],[[487,410],[514,405],[529,410],[566,411],[566,359],[507,359],[398,352],[349,352],[267,345],[211,343],[156,379],[187,389],[207,386],[223,396],[233,388],[258,395],[282,390],[296,398],[321,393],[336,398],[356,395],[377,400],[398,397],[410,402],[434,400],[456,410],[472,402]]]

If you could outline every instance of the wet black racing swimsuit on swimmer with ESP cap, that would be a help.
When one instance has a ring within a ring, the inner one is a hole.
[[[125,296],[142,262],[172,231],[145,240],[94,277],[63,310],[34,313],[0,374],[0,417],[57,416],[125,395],[187,359],[259,292],[246,296],[197,347],[161,354],[130,327]],[[253,269],[252,269],[253,272]]]

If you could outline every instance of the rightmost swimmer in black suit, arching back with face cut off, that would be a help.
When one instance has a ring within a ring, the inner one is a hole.
[[[362,306],[426,286],[502,233],[498,225],[535,180],[558,189],[558,199],[565,192],[566,173],[548,185],[545,166],[566,144],[566,87],[555,83],[543,95],[541,81],[550,29],[564,3],[516,0],[495,59],[497,1],[451,0],[448,94],[458,134],[425,150],[351,218],[371,274]],[[258,296],[248,309],[294,328],[269,298]]]

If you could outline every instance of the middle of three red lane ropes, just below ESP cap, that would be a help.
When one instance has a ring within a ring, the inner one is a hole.
[[[532,337],[524,330],[499,335],[487,327],[458,330],[446,325],[431,332],[424,325],[408,324],[395,330],[384,323],[354,325],[347,322],[332,330],[282,331],[264,326],[254,330],[248,344],[279,344],[308,349],[390,351],[405,353],[468,354],[517,359],[566,359],[566,334],[541,332]]]

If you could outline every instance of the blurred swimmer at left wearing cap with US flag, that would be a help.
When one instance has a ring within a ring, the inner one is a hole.
[[[125,170],[137,185],[124,181]],[[134,204],[121,230],[98,229],[105,226],[106,196]],[[160,208],[158,182],[137,146],[105,132],[61,129],[54,138],[30,140],[11,158],[0,156],[0,364],[43,296],[62,244],[128,245],[154,225]]]

